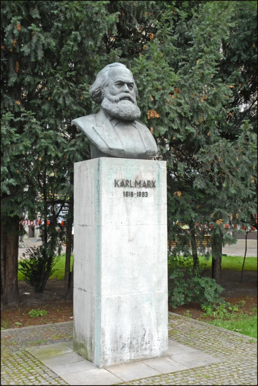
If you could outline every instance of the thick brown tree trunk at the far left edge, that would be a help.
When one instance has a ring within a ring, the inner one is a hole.
[[[1,218],[1,301],[3,304],[20,303],[17,277],[20,219],[14,216],[2,220]],[[8,231],[5,231],[6,221]]]

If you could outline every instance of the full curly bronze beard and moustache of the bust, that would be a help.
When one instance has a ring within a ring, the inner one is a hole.
[[[123,98],[129,98],[130,100]],[[122,120],[134,120],[141,116],[136,99],[132,95],[123,92],[113,96],[110,94],[108,87],[104,89],[104,99],[101,107],[106,113]]]

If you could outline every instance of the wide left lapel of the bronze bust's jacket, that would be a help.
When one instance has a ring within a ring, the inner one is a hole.
[[[115,150],[119,152],[119,154],[124,153],[121,141],[102,109],[100,109],[98,114],[96,114],[96,126],[93,126],[93,129],[99,134],[111,150]]]

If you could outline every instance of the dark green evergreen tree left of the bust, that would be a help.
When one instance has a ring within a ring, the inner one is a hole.
[[[51,248],[58,246],[54,236],[55,203],[60,197],[62,203],[73,201],[70,182],[74,162],[89,158],[88,141],[71,126],[71,120],[91,113],[88,89],[96,63],[109,60],[103,36],[112,30],[116,15],[107,12],[106,4],[107,1],[2,2],[1,113],[8,138],[2,142],[1,215],[6,227],[1,236],[6,238],[8,225],[14,221],[16,224],[10,227],[12,237],[16,237],[15,246],[12,244],[15,252],[10,253],[10,243],[6,242],[1,255],[2,266],[6,267],[2,291],[3,295],[14,293],[6,280],[11,275],[10,281],[16,283],[13,302],[19,300],[19,220],[25,212],[30,218],[39,213],[44,220],[42,241],[47,263],[47,256],[51,260],[55,253],[50,253]],[[15,188],[12,194],[11,186]],[[71,239],[71,235],[68,237]],[[7,264],[10,259],[11,264]],[[41,284],[43,290],[43,276]],[[3,298],[9,302],[9,295]]]

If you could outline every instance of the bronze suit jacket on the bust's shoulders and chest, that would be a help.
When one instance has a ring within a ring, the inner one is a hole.
[[[97,155],[93,156],[93,154],[91,154],[91,158],[95,158],[96,156],[107,156],[146,159],[150,156],[155,156],[158,152],[156,142],[148,128],[136,120],[134,121],[134,125],[138,129],[143,143],[142,152],[137,154],[124,150],[112,123],[102,109],[100,109],[97,114],[73,119],[72,124],[83,131],[90,140],[91,153],[93,153],[92,149],[94,149],[94,147],[97,148],[97,152],[94,152]]]

